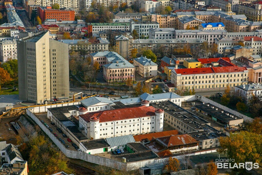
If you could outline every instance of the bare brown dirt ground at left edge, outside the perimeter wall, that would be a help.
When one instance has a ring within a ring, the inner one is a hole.
[[[19,116],[8,117],[8,118],[3,117],[0,120],[0,136],[5,138],[3,141],[6,141],[7,144],[16,145],[17,141],[15,137],[17,136],[17,134],[15,133],[15,131],[13,131],[10,122],[13,122],[17,119],[19,119]],[[9,131],[8,130],[9,128],[12,130]]]

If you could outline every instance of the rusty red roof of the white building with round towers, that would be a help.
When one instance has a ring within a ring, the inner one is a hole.
[[[140,107],[133,107],[133,108],[122,108],[122,109],[91,112],[79,116],[81,116],[86,122],[89,122],[90,118],[92,117],[97,117],[99,119],[99,122],[102,123],[107,121],[154,116],[156,115],[155,110],[156,109],[152,106],[149,107],[140,106]]]

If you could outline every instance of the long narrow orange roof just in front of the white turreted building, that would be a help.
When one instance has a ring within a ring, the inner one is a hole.
[[[154,132],[149,134],[140,134],[140,135],[134,135],[134,139],[136,142],[140,142],[141,140],[148,139],[149,141],[154,140],[154,138],[159,137],[165,137],[170,135],[177,135],[177,130],[171,130],[171,131],[162,131],[162,132]]]

